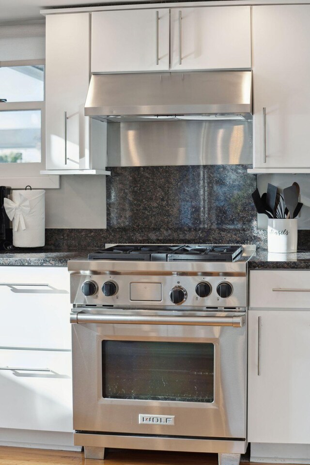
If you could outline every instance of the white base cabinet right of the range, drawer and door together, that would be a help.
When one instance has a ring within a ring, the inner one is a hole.
[[[266,462],[273,453],[285,458],[285,450],[301,458],[305,448],[293,446],[310,444],[309,283],[306,270],[250,271],[248,441],[262,461],[264,453]]]

